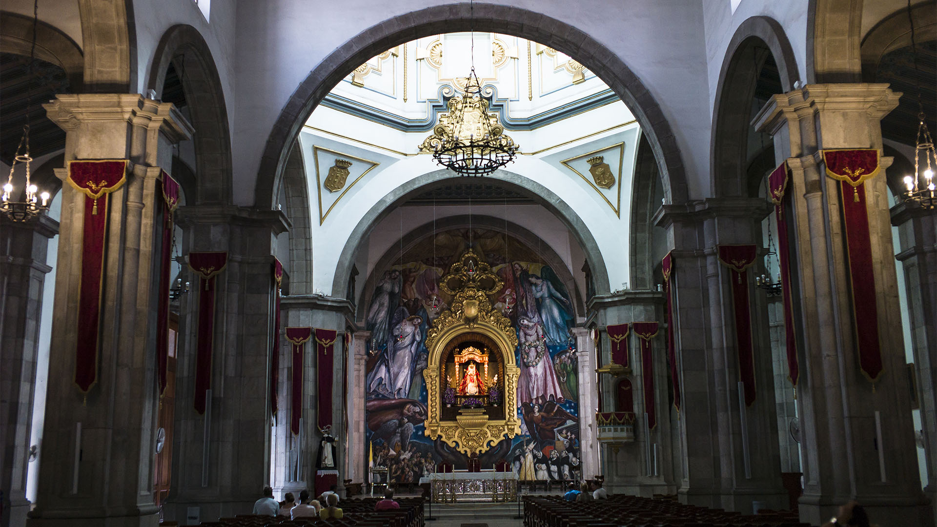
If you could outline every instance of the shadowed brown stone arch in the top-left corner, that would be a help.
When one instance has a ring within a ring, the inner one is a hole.
[[[0,48],[5,53],[29,56],[33,43],[33,19],[4,11],[0,14]],[[36,58],[65,69],[68,87],[81,92],[84,80],[84,54],[78,43],[58,28],[39,21],[36,26]]]

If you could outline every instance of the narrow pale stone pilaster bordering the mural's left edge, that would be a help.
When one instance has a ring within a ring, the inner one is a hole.
[[[346,404],[349,408],[349,433],[345,438],[348,459],[345,465],[346,479],[354,483],[364,482],[367,446],[364,444],[364,383],[367,377],[367,342],[370,331],[355,331],[351,336],[349,359],[349,390]]]

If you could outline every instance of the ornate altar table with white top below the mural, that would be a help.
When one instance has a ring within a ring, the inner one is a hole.
[[[512,502],[517,499],[517,474],[513,472],[453,472],[429,474],[420,483],[429,483],[436,503],[463,501]]]

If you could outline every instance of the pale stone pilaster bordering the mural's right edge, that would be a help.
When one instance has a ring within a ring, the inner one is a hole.
[[[599,466],[598,430],[595,413],[599,408],[598,386],[595,384],[595,341],[585,327],[573,327],[576,339],[576,371],[579,382],[579,463],[583,479],[592,479],[602,473]]]

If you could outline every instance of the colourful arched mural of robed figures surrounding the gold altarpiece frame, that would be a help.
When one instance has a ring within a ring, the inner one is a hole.
[[[504,233],[485,230],[437,233],[407,250],[399,264],[375,275],[373,294],[365,298],[366,329],[371,331],[366,463],[386,467],[394,483],[415,483],[442,463],[455,469],[468,466],[468,456],[424,435],[423,375],[429,354],[424,344],[427,329],[452,300],[439,287],[439,279],[468,248],[483,255],[504,282],[489,300],[511,320],[518,339],[513,350],[520,368],[517,407],[498,407],[503,399],[498,394],[503,387],[499,354],[488,353],[475,341],[448,353],[444,378],[449,393],[443,397],[452,400],[445,400],[446,406],[469,401],[484,405],[491,414],[516,412],[520,418],[521,434],[482,452],[481,468],[506,463],[524,481],[578,479],[578,366],[571,294],[534,251]]]

